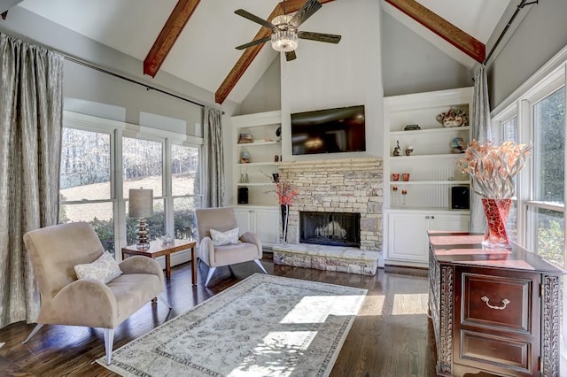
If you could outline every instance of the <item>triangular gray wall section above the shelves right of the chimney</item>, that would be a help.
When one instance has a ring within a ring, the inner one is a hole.
[[[470,69],[382,12],[384,96],[470,87]]]

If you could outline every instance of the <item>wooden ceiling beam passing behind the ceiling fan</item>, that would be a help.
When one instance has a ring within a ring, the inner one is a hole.
[[[333,0],[319,0],[319,3],[325,4],[330,3]],[[285,2],[285,12],[292,13],[298,12],[299,8],[305,4],[306,0],[286,0]],[[274,8],[274,11],[269,15],[268,20],[274,19],[276,16],[281,16],[283,14],[283,2],[280,2]],[[260,27],[260,30],[254,36],[252,41],[256,41],[260,38],[265,38],[271,35],[272,32],[267,27]],[[224,100],[229,96],[230,91],[237,85],[238,80],[246,72],[246,69],[252,64],[256,55],[260,52],[265,43],[256,44],[255,46],[246,49],[237,63],[232,67],[227,77],[222,81],[221,86],[214,93],[214,102],[217,104],[222,104]]]

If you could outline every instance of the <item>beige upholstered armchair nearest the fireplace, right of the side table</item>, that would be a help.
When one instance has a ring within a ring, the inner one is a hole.
[[[267,273],[264,266],[260,263],[262,243],[258,235],[245,232],[239,237],[237,236],[237,243],[214,245],[211,229],[214,229],[213,232],[215,230],[217,232],[228,232],[238,227],[237,217],[232,208],[203,208],[197,210],[195,214],[199,239],[199,263],[202,261],[209,266],[205,287],[211,281],[216,267],[223,265],[234,265],[253,260],[264,273]]]

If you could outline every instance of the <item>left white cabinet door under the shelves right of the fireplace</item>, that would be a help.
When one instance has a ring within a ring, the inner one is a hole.
[[[423,213],[390,213],[388,258],[427,263],[427,221]]]

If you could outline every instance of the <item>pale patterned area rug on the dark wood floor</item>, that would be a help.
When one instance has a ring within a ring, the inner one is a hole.
[[[327,376],[366,292],[255,273],[97,363],[123,376]]]

